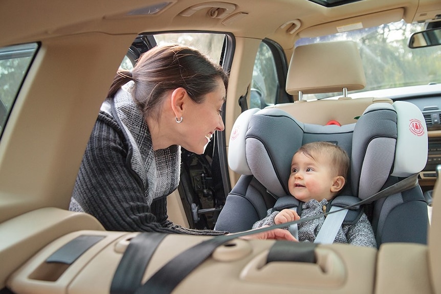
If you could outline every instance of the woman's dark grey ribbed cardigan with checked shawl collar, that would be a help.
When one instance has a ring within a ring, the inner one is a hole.
[[[101,106],[70,210],[94,215],[110,231],[225,234],[186,229],[167,220],[166,196],[179,184],[181,149],[174,145],[153,151],[131,86],[128,83]]]

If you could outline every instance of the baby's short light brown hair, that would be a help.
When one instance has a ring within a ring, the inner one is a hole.
[[[317,160],[317,157],[320,157],[320,159],[328,157],[335,175],[347,178],[350,164],[349,156],[340,146],[326,141],[317,141],[301,146],[297,152],[302,152],[314,160]]]

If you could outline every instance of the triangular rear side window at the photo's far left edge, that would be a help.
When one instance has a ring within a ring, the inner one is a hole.
[[[0,48],[0,134],[37,49],[37,43]]]

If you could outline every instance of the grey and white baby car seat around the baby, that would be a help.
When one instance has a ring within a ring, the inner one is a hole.
[[[302,123],[281,109],[248,109],[233,126],[228,153],[230,168],[241,176],[227,196],[215,230],[250,230],[265,217],[278,198],[289,195],[292,156],[313,141],[333,142],[347,151],[350,175],[340,195],[360,200],[419,173],[427,162],[425,120],[409,102],[372,104],[356,123],[342,126]],[[378,246],[427,243],[427,203],[419,185],[364,209]]]

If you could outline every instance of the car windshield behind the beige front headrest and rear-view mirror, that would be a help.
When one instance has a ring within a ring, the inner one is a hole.
[[[354,30],[316,38],[302,38],[296,46],[328,41],[357,42],[366,75],[366,87],[350,93],[441,83],[441,47],[410,49],[412,33],[424,30],[424,24],[406,24],[404,20],[379,27]],[[304,95],[307,100],[322,99],[341,93]]]

